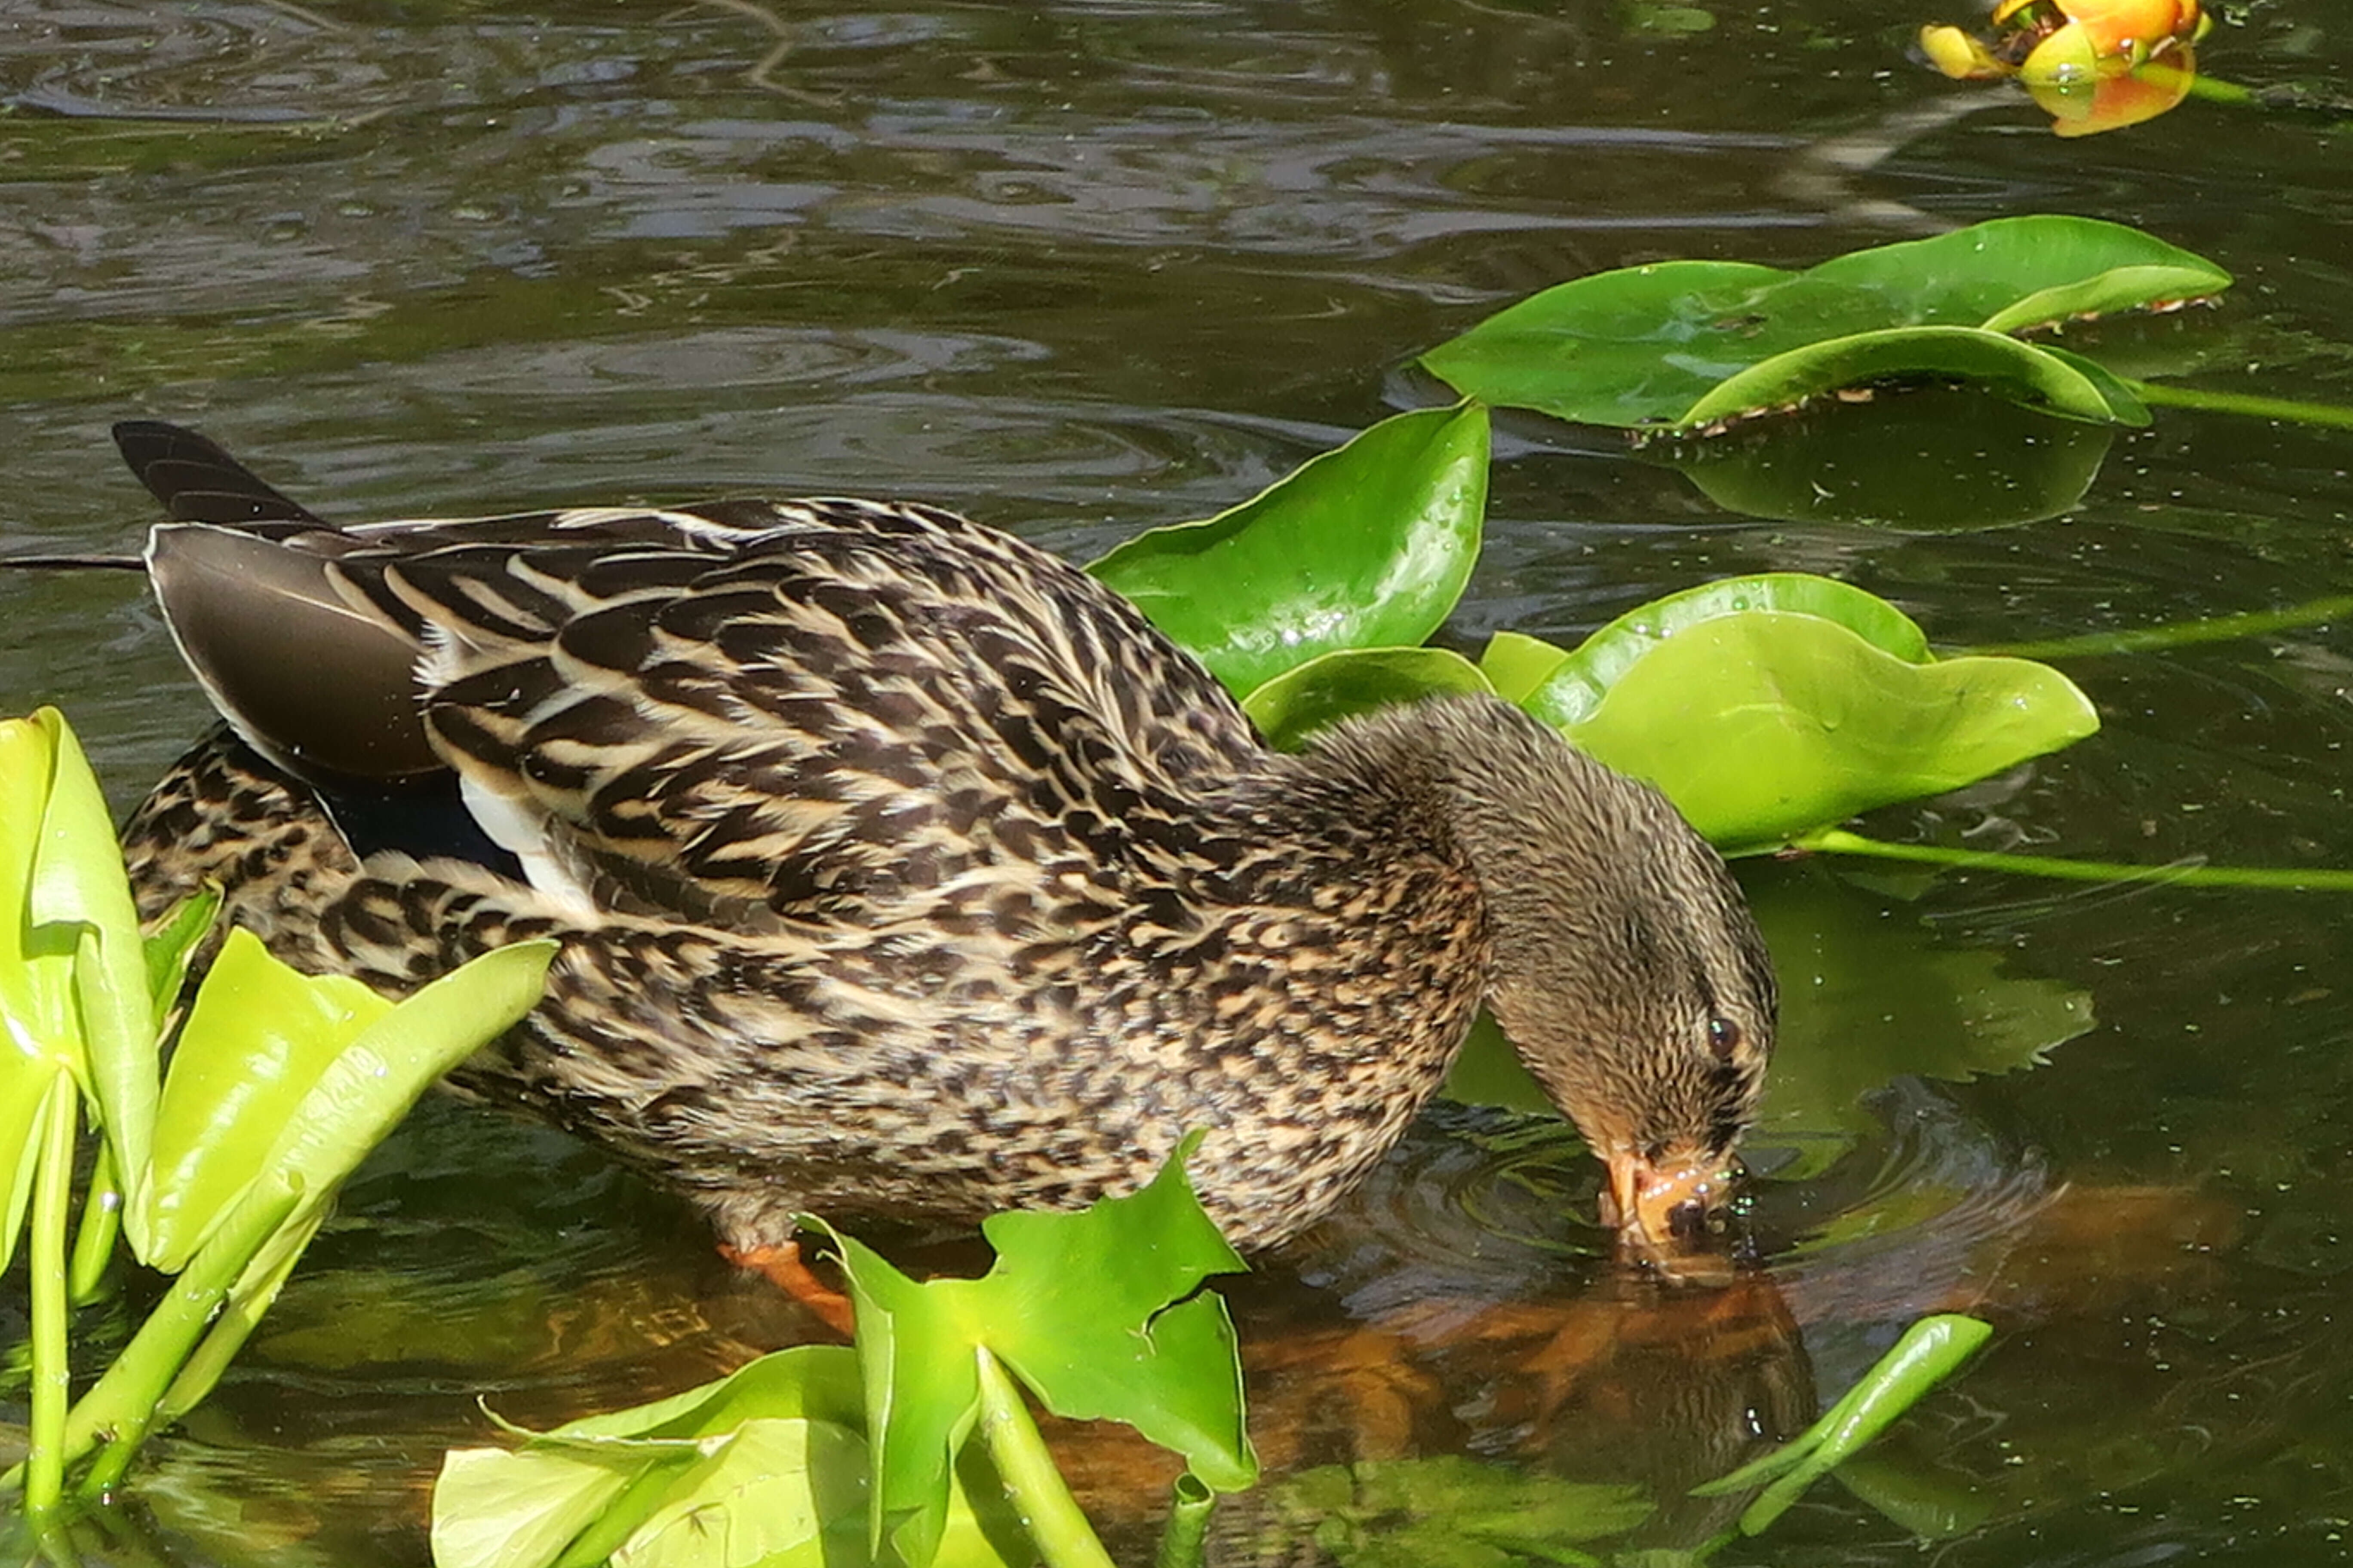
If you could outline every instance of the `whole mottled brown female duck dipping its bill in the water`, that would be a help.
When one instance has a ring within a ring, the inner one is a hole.
[[[228,719],[132,816],[386,990],[555,936],[454,1081],[609,1145],[739,1253],[1146,1180],[1186,1128],[1240,1246],[1299,1232],[1489,1001],[1638,1248],[1708,1213],[1774,983],[1654,790],[1492,698],[1268,752],[1125,599],[925,505],[722,501],[339,529],[118,425]]]

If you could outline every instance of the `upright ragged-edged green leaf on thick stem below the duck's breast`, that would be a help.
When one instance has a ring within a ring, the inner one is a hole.
[[[908,1568],[939,1554],[948,1479],[981,1413],[976,1347],[1056,1415],[1122,1420],[1184,1455],[1212,1490],[1257,1481],[1233,1321],[1221,1298],[1195,1295],[1242,1258],[1200,1213],[1184,1178],[1188,1147],[1129,1197],[991,1218],[981,1232],[998,1262],[981,1279],[915,1284],[833,1237],[859,1319],[878,1556],[885,1542]],[[1120,1265],[1104,1267],[1108,1258]]]

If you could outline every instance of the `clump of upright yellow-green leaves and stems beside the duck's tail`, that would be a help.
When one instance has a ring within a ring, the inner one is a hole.
[[[344,1178],[449,1065],[529,1011],[553,954],[515,945],[395,1006],[231,933],[181,1020],[212,912],[195,900],[141,938],[66,719],[0,719],[0,1030],[14,1046],[0,1051],[0,1262],[24,1234],[31,1291],[28,1453],[5,1483],[35,1537],[64,1521],[75,1467],[75,1497],[106,1495],[151,1429],[212,1392]],[[85,1119],[99,1147],[75,1225]],[[172,1288],[73,1399],[73,1302],[101,1293],[118,1239]]]

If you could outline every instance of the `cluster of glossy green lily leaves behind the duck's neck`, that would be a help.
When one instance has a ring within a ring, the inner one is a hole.
[[[1494,691],[1659,790],[1720,849],[1777,849],[1974,783],[2099,729],[2026,658],[1932,658],[1885,599],[1805,574],[1725,578],[1574,651],[1506,632],[1480,663],[1424,646],[1478,555],[1487,411],[1419,409],[1207,522],[1092,571],[1242,698],[1273,745],[1381,703]],[[1741,766],[1720,766],[1722,757]]]

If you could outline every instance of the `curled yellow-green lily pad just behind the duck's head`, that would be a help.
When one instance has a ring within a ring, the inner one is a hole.
[[[1511,642],[1499,689],[1544,654]],[[1562,656],[1520,705],[1649,780],[1725,851],[1941,795],[2099,729],[2026,658],[1932,658],[1885,599],[1802,574],[1725,578],[1645,604]]]

